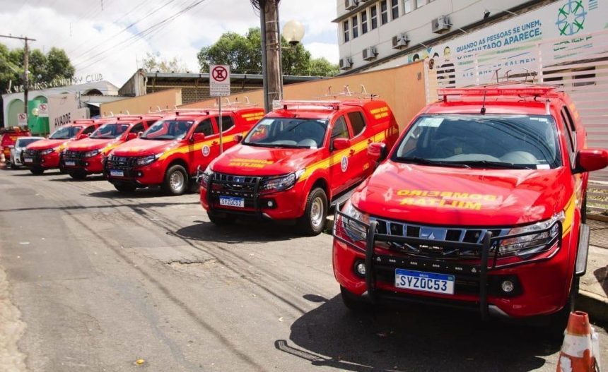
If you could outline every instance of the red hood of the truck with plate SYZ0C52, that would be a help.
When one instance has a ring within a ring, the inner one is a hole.
[[[318,159],[310,148],[260,148],[236,145],[211,163],[214,172],[239,176],[279,176],[304,169]]]

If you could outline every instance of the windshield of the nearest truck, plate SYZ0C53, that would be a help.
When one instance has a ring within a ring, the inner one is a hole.
[[[552,169],[561,165],[555,121],[530,115],[424,115],[392,155],[438,167]]]

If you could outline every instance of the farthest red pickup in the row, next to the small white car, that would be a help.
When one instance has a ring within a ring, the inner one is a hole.
[[[103,123],[103,120],[76,120],[57,128],[46,140],[28,145],[23,156],[23,165],[33,174],[42,174],[46,169],[61,167],[59,157],[62,150],[73,140],[87,138]]]

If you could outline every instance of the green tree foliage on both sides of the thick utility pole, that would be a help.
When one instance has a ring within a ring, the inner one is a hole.
[[[302,44],[292,46],[281,37],[283,74],[301,76],[334,76],[338,66],[325,58],[312,59]],[[235,73],[262,73],[262,32],[250,28],[245,35],[226,32],[210,47],[199,54],[201,72],[208,73],[210,64],[227,64]]]

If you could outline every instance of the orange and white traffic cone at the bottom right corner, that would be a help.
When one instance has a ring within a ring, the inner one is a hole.
[[[600,366],[593,354],[595,348],[592,347],[594,342],[591,334],[592,328],[587,313],[583,311],[570,313],[559,353],[557,372],[599,371]],[[597,335],[595,337],[597,339]]]

